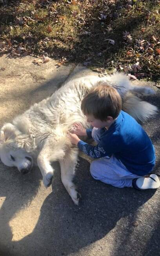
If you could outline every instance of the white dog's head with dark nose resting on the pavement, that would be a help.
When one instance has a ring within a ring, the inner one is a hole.
[[[16,166],[22,174],[31,171],[33,158],[27,153],[25,143],[26,135],[23,135],[11,123],[6,123],[0,131],[0,159],[7,166]]]

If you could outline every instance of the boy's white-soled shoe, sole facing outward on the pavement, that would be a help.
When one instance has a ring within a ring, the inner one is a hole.
[[[136,186],[139,189],[159,188],[160,180],[156,174],[150,174],[148,177],[138,178]]]

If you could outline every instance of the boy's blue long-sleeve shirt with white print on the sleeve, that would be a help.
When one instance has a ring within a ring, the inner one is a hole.
[[[91,138],[91,129],[87,129]],[[115,155],[133,174],[144,176],[152,171],[155,165],[155,149],[142,126],[129,114],[121,111],[115,122],[109,127],[100,129],[100,142],[96,146],[78,142],[78,148],[93,158]]]

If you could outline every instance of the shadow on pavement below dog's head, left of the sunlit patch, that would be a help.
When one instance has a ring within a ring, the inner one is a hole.
[[[29,206],[38,193],[42,177],[37,169],[33,168],[29,175],[22,176],[16,168],[0,163],[0,197],[5,197],[0,207],[0,255],[14,255],[10,251],[13,234],[9,221],[18,211]]]

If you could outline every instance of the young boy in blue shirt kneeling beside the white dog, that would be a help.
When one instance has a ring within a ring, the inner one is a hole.
[[[93,178],[119,188],[158,188],[156,174],[149,175],[155,166],[153,144],[140,124],[121,107],[122,99],[113,87],[93,88],[81,104],[93,129],[75,124],[75,131],[69,133],[71,142],[96,159],[90,166]],[[97,145],[87,144],[77,135],[92,137]]]

